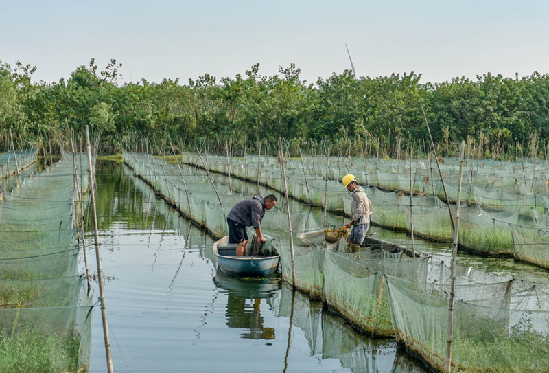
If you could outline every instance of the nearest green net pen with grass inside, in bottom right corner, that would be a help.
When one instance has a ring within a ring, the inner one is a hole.
[[[397,278],[388,278],[387,282],[397,341],[404,343],[410,352],[417,354],[435,370],[443,371],[447,293],[423,291],[418,284]],[[488,284],[484,289],[486,287]],[[549,345],[546,310],[511,308],[511,299],[522,296],[520,293],[512,295],[510,291],[495,291],[500,296],[493,298],[490,298],[493,294],[482,289],[474,292],[469,289],[466,293],[489,298],[456,301],[452,372],[547,372]],[[463,297],[464,293],[456,295],[458,298],[460,296]],[[514,313],[512,319],[511,313]],[[541,322],[544,324],[542,328],[539,325],[534,328],[534,318],[545,320]],[[532,351],[531,359],[526,359],[528,351]]]

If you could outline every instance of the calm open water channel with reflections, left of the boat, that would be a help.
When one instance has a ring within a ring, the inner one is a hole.
[[[218,273],[213,238],[123,166],[100,163],[97,184],[115,372],[426,372],[277,276]],[[95,273],[93,252],[88,262]],[[97,307],[91,372],[106,372],[104,351]]]

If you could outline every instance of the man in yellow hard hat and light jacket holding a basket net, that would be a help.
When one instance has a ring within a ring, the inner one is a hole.
[[[358,251],[370,227],[372,204],[366,196],[364,189],[356,183],[356,178],[353,175],[345,175],[343,177],[343,185],[353,197],[353,202],[351,203],[351,218],[353,220],[345,225],[347,228],[353,227],[351,236],[349,236],[349,246],[352,251]]]

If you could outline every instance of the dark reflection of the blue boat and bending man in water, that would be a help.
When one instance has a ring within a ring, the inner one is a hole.
[[[235,278],[226,275],[218,267],[213,282],[226,291],[225,316],[229,328],[245,330],[240,336],[246,339],[274,339],[274,328],[264,326],[261,302],[279,291],[280,276]]]

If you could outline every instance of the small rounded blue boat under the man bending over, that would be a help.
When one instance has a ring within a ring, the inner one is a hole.
[[[237,256],[236,244],[229,244],[229,236],[213,243],[213,254],[220,269],[229,275],[266,276],[277,271],[278,254],[273,256]]]

